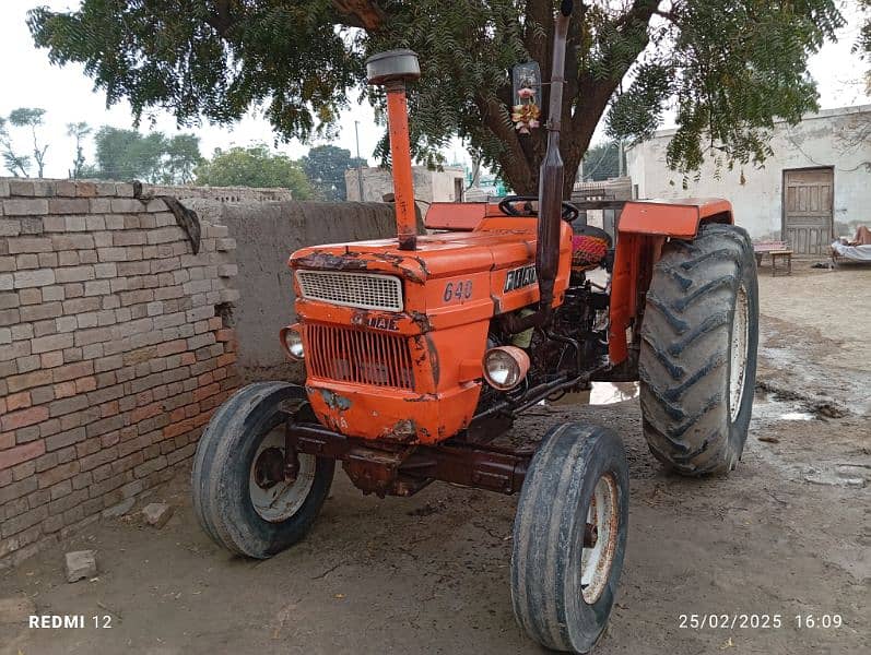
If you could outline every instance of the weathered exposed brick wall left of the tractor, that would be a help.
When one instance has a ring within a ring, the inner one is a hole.
[[[235,240],[127,183],[0,179],[0,565],[187,465],[236,385]]]

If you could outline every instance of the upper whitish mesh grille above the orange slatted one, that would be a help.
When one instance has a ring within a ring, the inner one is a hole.
[[[393,275],[297,271],[303,298],[345,307],[402,311],[402,281]]]

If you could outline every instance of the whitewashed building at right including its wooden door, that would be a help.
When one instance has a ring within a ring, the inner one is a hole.
[[[635,198],[726,198],[754,239],[782,239],[803,254],[825,253],[834,237],[871,224],[871,105],[826,109],[797,126],[778,122],[761,168],[717,170],[708,158],[686,189],[666,165],[673,134],[659,131],[627,152]]]

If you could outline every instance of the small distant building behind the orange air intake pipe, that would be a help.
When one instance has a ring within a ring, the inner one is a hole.
[[[363,168],[364,202],[382,202],[387,193],[393,192],[393,177],[387,168]],[[426,166],[413,166],[414,198],[424,202],[461,202],[466,189],[466,171],[458,166],[445,166],[442,170],[429,170]],[[360,201],[357,169],[345,170],[348,200]],[[426,207],[423,207],[425,211]]]

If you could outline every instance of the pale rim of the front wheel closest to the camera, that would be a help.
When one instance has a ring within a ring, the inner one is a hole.
[[[608,586],[617,548],[620,500],[616,479],[610,473],[596,483],[587,510],[587,525],[596,535],[596,544],[581,550],[580,588],[584,602],[592,605]]]

